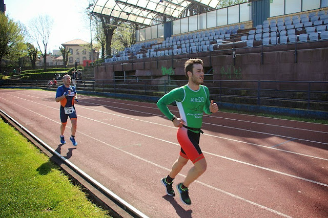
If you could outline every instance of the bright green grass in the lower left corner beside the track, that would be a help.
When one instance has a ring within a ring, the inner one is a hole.
[[[0,217],[110,217],[0,119]]]

